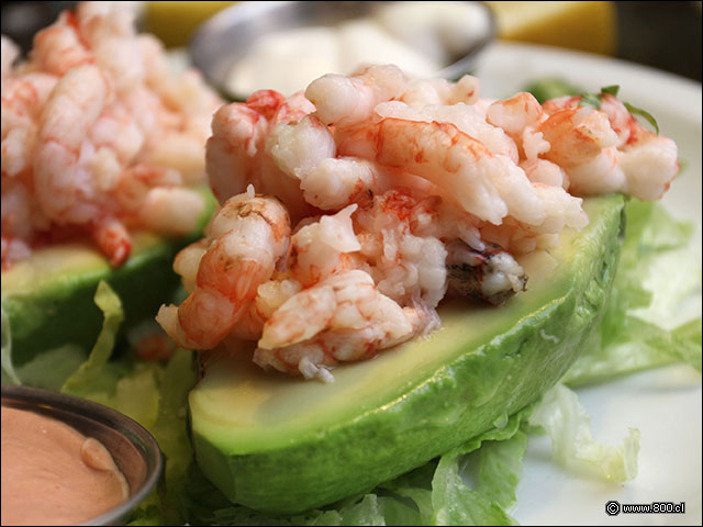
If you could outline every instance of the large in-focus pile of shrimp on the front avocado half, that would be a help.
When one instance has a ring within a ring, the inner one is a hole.
[[[254,340],[259,366],[332,381],[437,328],[448,294],[509,301],[516,256],[588,224],[582,197],[657,199],[678,171],[674,143],[617,99],[579,102],[369,66],[222,106],[207,145],[222,208],[175,261],[189,296],[157,321],[179,346]]]

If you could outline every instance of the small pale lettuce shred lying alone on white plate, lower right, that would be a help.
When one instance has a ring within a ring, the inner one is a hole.
[[[555,460],[568,469],[595,473],[615,483],[637,475],[639,430],[631,428],[617,447],[600,445],[591,433],[591,417],[578,395],[563,384],[544,394],[528,423],[547,431]]]

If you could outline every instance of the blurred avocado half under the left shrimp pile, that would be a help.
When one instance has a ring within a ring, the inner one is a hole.
[[[132,254],[114,269],[89,243],[65,243],[35,250],[30,258],[2,271],[2,311],[12,335],[12,361],[29,362],[43,351],[77,344],[90,349],[98,338],[103,314],[93,301],[105,280],[122,300],[122,330],[153,318],[179,285],[174,257],[200,238],[215,199],[201,189],[205,206],[196,229],[182,237],[149,232],[132,235]]]

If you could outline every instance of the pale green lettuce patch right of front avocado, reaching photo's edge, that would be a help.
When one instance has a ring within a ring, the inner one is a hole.
[[[627,203],[626,217],[603,322],[562,379],[571,386],[678,361],[701,371],[701,259],[689,245],[693,226],[638,200]]]

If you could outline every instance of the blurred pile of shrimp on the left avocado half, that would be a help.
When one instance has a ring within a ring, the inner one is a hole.
[[[221,104],[120,2],[86,2],[40,31],[29,58],[2,36],[2,266],[88,237],[113,266],[130,229],[193,229],[204,146]]]

